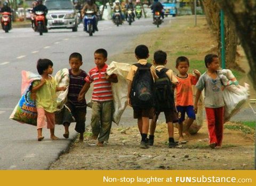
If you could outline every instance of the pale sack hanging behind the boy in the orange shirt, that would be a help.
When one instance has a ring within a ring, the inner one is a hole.
[[[196,98],[196,91],[197,88],[195,85],[192,86],[192,91],[193,91],[193,102],[195,102]],[[204,110],[204,92],[201,93],[198,103],[197,103],[197,114],[196,114],[196,119],[194,120],[193,124],[189,127],[188,132],[190,134],[196,134],[199,129],[203,126],[204,122],[204,116],[203,116],[203,110]],[[188,123],[188,116],[186,115],[185,120],[183,122],[183,129],[187,128],[187,123]],[[175,123],[174,126],[178,128],[178,123]]]

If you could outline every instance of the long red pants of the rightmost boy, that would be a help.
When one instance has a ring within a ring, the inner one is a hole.
[[[205,108],[210,144],[221,146],[223,138],[224,107]]]

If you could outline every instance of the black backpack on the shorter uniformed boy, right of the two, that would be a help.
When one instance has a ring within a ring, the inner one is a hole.
[[[167,68],[163,68],[160,71],[156,70],[158,79],[155,80],[155,100],[156,110],[159,112],[175,108],[172,82],[166,75],[168,70]]]

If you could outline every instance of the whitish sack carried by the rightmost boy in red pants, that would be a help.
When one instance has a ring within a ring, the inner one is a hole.
[[[228,122],[249,99],[249,84],[238,85],[238,82],[229,69],[220,71],[220,78],[225,89],[222,91],[225,102],[224,123]]]

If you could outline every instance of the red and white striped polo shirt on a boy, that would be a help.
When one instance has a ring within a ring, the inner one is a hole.
[[[93,83],[92,101],[110,101],[113,100],[111,83],[105,78],[108,65],[102,69],[94,67],[84,79],[86,82]]]

